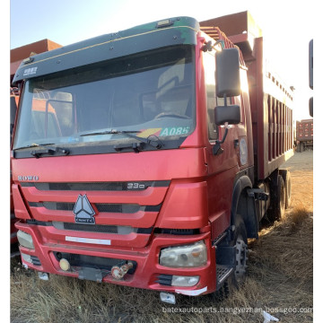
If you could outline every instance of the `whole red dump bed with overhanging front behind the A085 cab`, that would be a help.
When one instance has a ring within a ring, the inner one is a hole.
[[[292,93],[265,64],[262,31],[249,12],[200,22],[219,27],[239,46],[248,67],[255,177],[266,179],[292,156]]]

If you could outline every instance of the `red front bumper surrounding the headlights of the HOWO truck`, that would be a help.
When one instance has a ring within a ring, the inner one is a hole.
[[[131,287],[156,290],[161,292],[178,292],[186,295],[199,295],[202,293],[214,292],[216,288],[215,273],[215,249],[211,243],[211,232],[176,236],[171,234],[156,234],[151,242],[143,248],[131,247],[114,247],[107,245],[89,244],[75,241],[65,241],[55,243],[53,240],[46,240],[46,228],[39,228],[36,225],[26,223],[16,223],[19,230],[31,234],[35,249],[27,249],[20,246],[23,254],[30,255],[32,259],[36,259],[32,263],[22,263],[37,271],[46,272],[56,275],[67,275],[71,277],[83,278],[84,263],[75,263],[72,270],[64,271],[59,266],[57,254],[71,255],[71,258],[106,258],[107,261],[131,261],[135,263],[135,270],[126,274],[122,279],[117,280],[110,275],[109,271],[102,276],[103,283],[122,284]],[[150,239],[148,236],[146,239]],[[207,247],[207,263],[205,266],[189,267],[189,268],[170,268],[159,264],[159,255],[162,248],[188,245],[196,241],[205,240]],[[58,242],[58,241],[57,241]],[[76,257],[77,256],[77,257]],[[100,261],[99,261],[100,262]],[[99,265],[100,266],[100,265]],[[163,283],[161,277],[171,275],[198,275],[199,282],[192,287],[177,287]]]

